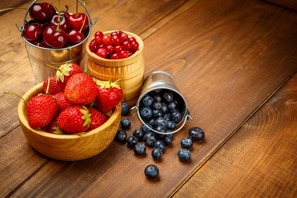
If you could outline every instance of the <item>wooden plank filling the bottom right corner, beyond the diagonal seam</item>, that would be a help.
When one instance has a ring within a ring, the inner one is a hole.
[[[297,197],[297,74],[175,194]]]

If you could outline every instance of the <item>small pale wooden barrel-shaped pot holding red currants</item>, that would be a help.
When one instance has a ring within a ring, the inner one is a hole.
[[[110,35],[114,31],[103,32]],[[88,70],[98,80],[116,81],[121,79],[121,87],[124,92],[121,102],[128,103],[129,106],[136,104],[139,98],[141,87],[145,76],[145,59],[143,56],[144,42],[131,32],[125,32],[129,38],[134,37],[139,43],[139,49],[130,57],[118,60],[110,60],[99,57],[89,48],[92,37],[87,44]]]

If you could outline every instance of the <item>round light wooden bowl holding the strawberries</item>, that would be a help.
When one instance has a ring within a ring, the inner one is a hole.
[[[42,93],[42,85],[40,83],[31,88],[23,98],[29,101]],[[18,104],[17,113],[23,133],[35,150],[53,159],[74,161],[92,157],[108,147],[119,127],[121,103],[107,113],[110,118],[103,125],[82,135],[56,135],[31,128],[23,100]]]

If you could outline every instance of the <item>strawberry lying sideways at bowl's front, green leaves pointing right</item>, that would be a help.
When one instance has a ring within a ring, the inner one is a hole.
[[[67,133],[86,132],[91,124],[91,114],[85,106],[75,105],[59,114],[58,126]]]

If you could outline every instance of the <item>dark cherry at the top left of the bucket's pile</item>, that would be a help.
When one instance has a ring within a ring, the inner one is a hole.
[[[45,6],[44,4],[34,3],[29,10],[29,14],[31,19],[42,23],[49,20],[51,11],[49,7]]]

